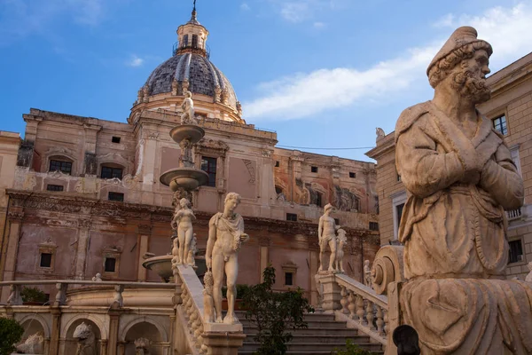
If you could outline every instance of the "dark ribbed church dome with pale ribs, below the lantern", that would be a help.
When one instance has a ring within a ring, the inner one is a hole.
[[[183,95],[187,87],[192,94],[206,95],[237,110],[237,96],[222,71],[208,59],[206,52],[180,47],[175,55],[153,70],[145,83],[149,96],[172,93]]]

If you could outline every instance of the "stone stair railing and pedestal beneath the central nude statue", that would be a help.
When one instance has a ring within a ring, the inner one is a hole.
[[[246,335],[242,324],[210,323],[204,319],[203,285],[191,266],[178,265],[174,272],[177,285],[177,317],[182,324],[188,351],[193,354],[238,354]]]

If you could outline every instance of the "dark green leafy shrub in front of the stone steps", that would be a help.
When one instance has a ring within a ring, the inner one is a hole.
[[[314,311],[301,288],[288,292],[275,292],[275,268],[264,269],[263,282],[249,286],[242,297],[242,308],[246,319],[257,327],[254,340],[260,343],[255,354],[283,355],[286,343],[292,340],[289,329],[305,328],[305,312]]]

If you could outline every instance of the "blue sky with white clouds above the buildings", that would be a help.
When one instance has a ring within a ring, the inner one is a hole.
[[[532,51],[532,0],[198,0],[211,61],[244,118],[280,146],[375,145],[431,99],[426,66],[471,25],[492,72]],[[171,56],[192,0],[0,0],[0,130],[30,107],[126,122],[137,90]],[[361,150],[311,150],[367,161]]]

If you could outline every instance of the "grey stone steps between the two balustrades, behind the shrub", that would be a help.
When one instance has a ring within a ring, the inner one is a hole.
[[[246,334],[239,354],[252,354],[259,347],[259,344],[254,342],[256,327],[246,320],[245,312],[237,313]],[[308,328],[291,331],[293,339],[288,343],[287,354],[331,354],[335,348],[345,348],[348,339],[365,350],[384,354],[380,343],[371,343],[369,336],[359,335],[356,329],[348,328],[345,322],[334,320],[333,314],[306,314],[305,320],[309,325]]]

